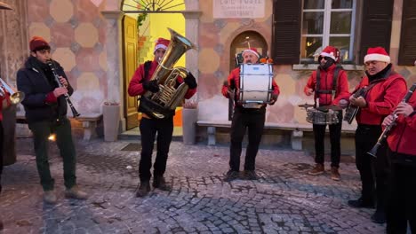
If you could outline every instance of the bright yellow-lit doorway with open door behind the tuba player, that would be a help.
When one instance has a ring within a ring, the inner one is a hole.
[[[185,10],[185,3],[183,0],[124,0],[121,9],[124,12],[122,38],[125,128],[133,129],[138,126],[140,115],[137,112],[138,98],[129,97],[127,93],[132,75],[137,66],[153,59],[153,46],[158,37],[170,38],[166,27],[185,35],[185,19],[182,14],[178,15]],[[185,57],[180,58],[177,65],[185,66]]]

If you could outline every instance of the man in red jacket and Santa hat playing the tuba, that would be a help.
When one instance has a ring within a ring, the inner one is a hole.
[[[150,91],[156,93],[159,91],[159,84],[156,80],[150,80],[155,73],[159,61],[164,57],[164,53],[169,46],[170,41],[164,38],[158,38],[155,44],[154,59],[141,64],[132,76],[132,81],[129,84],[129,95],[136,97],[143,95]],[[191,98],[196,93],[196,79],[193,74],[188,73],[188,76],[183,79],[178,76],[177,83],[185,82],[188,85],[188,91],[185,98]],[[151,113],[139,106],[139,112],[142,113],[140,121],[140,135],[141,135],[141,157],[139,163],[139,177],[140,187],[136,192],[136,197],[144,197],[150,191],[150,168],[152,168],[152,153],[153,145],[157,133],[157,153],[155,164],[153,165],[153,187],[170,191],[171,187],[164,179],[164,171],[166,170],[166,162],[169,153],[169,147],[172,142],[173,133],[173,115],[174,110],[166,113],[163,119],[152,117]]]

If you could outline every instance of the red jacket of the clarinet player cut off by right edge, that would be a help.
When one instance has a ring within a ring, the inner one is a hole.
[[[413,94],[410,98],[410,105],[413,110],[416,110],[416,95]],[[391,129],[388,135],[388,147],[393,152],[404,153],[416,157],[416,113],[404,117],[399,115],[396,121],[396,126]]]

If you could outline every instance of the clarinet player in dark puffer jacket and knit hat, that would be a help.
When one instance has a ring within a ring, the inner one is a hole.
[[[44,38],[34,36],[29,42],[30,56],[17,74],[17,86],[25,93],[21,102],[25,107],[28,128],[33,133],[36,167],[44,189],[44,201],[56,203],[54,180],[48,161],[48,137],[56,135],[56,143],[63,159],[65,197],[86,199],[87,194],[76,185],[76,149],[72,140],[71,124],[67,118],[67,100],[74,90],[63,68],[51,58],[51,46]],[[56,81],[51,66],[56,64]]]

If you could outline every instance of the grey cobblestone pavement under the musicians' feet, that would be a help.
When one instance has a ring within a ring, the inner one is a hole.
[[[341,163],[341,181],[329,172],[306,175],[304,152],[260,149],[258,181],[222,182],[228,146],[173,142],[166,179],[172,191],[135,198],[140,152],[131,141],[78,142],[77,181],[85,201],[65,199],[62,163],[51,147],[58,204],[45,205],[30,138],[19,139],[18,162],[4,168],[0,195],[2,234],[17,233],[383,233],[372,209],[348,207],[359,196],[353,163]],[[244,155],[243,155],[244,157]],[[244,161],[244,160],[242,160]]]

